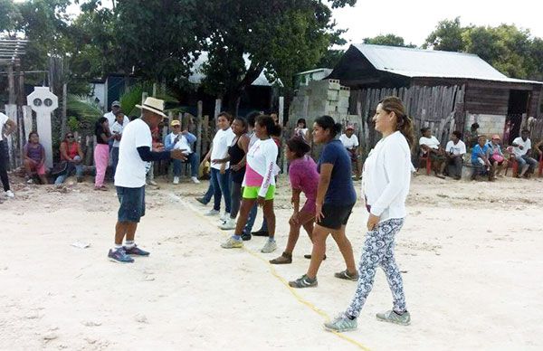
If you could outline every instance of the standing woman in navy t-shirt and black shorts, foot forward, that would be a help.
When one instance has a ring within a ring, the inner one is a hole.
[[[319,186],[313,230],[313,251],[310,268],[299,279],[289,282],[292,288],[317,286],[317,271],[324,260],[326,239],[329,234],[336,241],[339,251],[347,265],[347,270],[335,274],[336,278],[357,280],[357,267],[353,248],[345,235],[345,227],[353,206],[357,202],[357,193],[351,179],[351,161],[347,150],[336,136],[341,132],[341,124],[329,116],[322,116],[313,125],[313,141],[324,144],[319,158]]]

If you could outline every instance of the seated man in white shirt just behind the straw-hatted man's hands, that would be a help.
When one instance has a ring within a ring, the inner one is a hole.
[[[181,122],[174,119],[170,126],[172,132],[164,138],[164,148],[166,151],[173,149],[183,150],[183,154],[186,156],[188,162],[190,162],[190,173],[193,183],[199,184],[198,180],[198,165],[200,164],[200,157],[195,152],[192,152],[192,147],[196,141],[194,134],[188,132],[188,130],[181,131]],[[179,175],[181,175],[181,161],[174,159],[174,184],[179,184]]]

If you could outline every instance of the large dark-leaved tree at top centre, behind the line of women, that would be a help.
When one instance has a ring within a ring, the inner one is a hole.
[[[332,7],[355,3],[334,1]],[[209,57],[205,88],[222,96],[233,113],[243,90],[264,69],[291,89],[294,73],[319,62],[336,32],[329,6],[318,0],[199,1],[195,15],[203,18],[200,38]]]

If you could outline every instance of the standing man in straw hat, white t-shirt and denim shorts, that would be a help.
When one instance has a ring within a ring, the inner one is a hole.
[[[147,98],[141,109],[141,118],[130,122],[122,133],[119,145],[119,165],[115,174],[115,186],[119,197],[119,213],[115,225],[115,246],[108,257],[112,261],[133,262],[129,255],[148,256],[148,251],[138,248],[134,242],[139,219],[145,214],[145,175],[148,164],[170,158],[185,160],[183,150],[155,152],[151,150],[151,129],[166,117],[164,100]],[[126,237],[125,245],[122,245]]]

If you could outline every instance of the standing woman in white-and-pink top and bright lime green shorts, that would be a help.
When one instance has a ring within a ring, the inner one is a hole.
[[[275,195],[275,175],[278,174],[277,145],[271,135],[277,134],[280,127],[270,116],[256,118],[254,133],[259,138],[247,153],[247,164],[243,178],[243,200],[240,215],[233,236],[221,244],[224,249],[242,248],[242,233],[249,217],[252,205],[256,202],[262,207],[264,218],[268,224],[269,238],[262,252],[268,253],[277,249],[275,242],[275,213],[273,212],[273,197]]]

